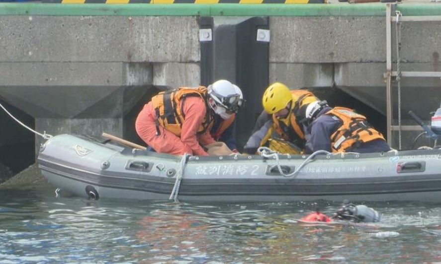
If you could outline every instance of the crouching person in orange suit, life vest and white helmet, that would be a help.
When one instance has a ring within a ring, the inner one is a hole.
[[[207,156],[204,147],[216,143],[209,131],[214,115],[228,120],[239,109],[241,93],[235,86],[218,80],[208,87],[160,92],[138,114],[136,132],[157,152]]]

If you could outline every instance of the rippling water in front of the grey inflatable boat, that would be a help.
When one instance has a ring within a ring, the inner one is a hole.
[[[366,204],[379,224],[302,224],[314,203],[88,200],[0,190],[0,263],[441,263],[440,204]]]

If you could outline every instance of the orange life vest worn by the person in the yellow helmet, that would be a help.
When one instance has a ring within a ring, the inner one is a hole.
[[[288,117],[280,120],[272,115],[274,130],[288,141],[304,141],[305,134],[300,121],[305,117],[300,116],[299,110],[304,104],[318,101],[318,99],[312,92],[306,90],[291,90],[291,94],[292,104]]]

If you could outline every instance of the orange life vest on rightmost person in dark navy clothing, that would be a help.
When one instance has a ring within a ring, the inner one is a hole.
[[[346,151],[354,144],[368,142],[374,139],[384,139],[383,135],[376,131],[366,118],[353,110],[345,107],[335,107],[325,115],[333,115],[339,118],[342,126],[331,135],[332,152]]]

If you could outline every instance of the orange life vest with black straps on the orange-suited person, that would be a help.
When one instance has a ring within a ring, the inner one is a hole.
[[[210,111],[207,102],[207,88],[199,87],[179,87],[175,90],[160,92],[152,97],[153,108],[157,116],[157,126],[180,136],[182,124],[185,121],[185,114],[182,113],[182,101],[185,97],[198,96],[205,102],[206,116],[204,117],[197,132],[203,133],[213,122],[212,111]],[[157,128],[159,134],[159,129]]]

